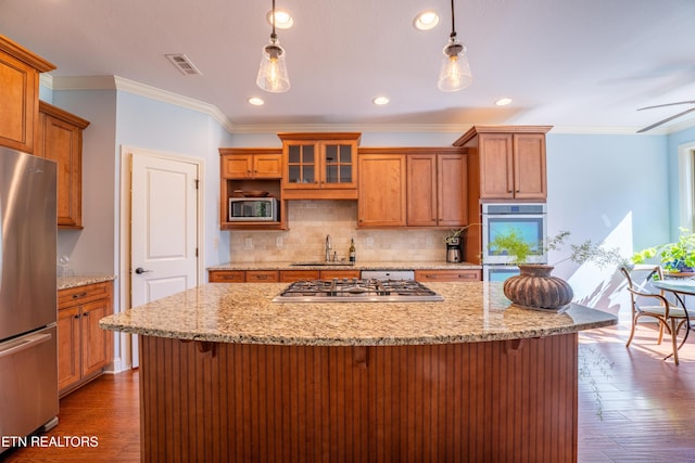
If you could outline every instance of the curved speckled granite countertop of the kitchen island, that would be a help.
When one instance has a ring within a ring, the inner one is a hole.
[[[502,283],[430,283],[439,303],[273,303],[285,283],[211,283],[101,319],[102,329],[240,344],[387,346],[518,339],[617,324],[572,305],[509,306]]]

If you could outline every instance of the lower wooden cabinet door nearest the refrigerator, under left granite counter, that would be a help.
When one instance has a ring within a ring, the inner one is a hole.
[[[80,310],[79,306],[58,311],[58,389],[80,380]]]

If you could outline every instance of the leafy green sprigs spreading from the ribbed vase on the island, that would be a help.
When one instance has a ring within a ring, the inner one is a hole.
[[[511,263],[523,265],[529,261],[529,256],[534,249],[544,248],[546,250],[561,250],[567,245],[570,232],[560,231],[555,236],[551,236],[545,243],[530,243],[521,236],[521,232],[511,229],[506,234],[498,234],[489,244],[489,249],[496,255],[507,255],[511,257]],[[570,255],[554,265],[571,260],[577,263],[594,262],[598,267],[620,265],[627,261],[620,255],[618,248],[606,248],[601,244],[586,240],[581,244],[569,244]]]

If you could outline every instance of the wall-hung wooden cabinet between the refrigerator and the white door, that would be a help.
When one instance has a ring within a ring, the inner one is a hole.
[[[83,228],[83,130],[89,121],[39,102],[34,154],[58,164],[58,227]]]

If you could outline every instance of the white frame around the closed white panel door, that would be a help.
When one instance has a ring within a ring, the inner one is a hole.
[[[198,246],[198,263],[195,275],[198,284],[204,281],[205,267],[203,265],[204,250],[204,220],[203,220],[203,207],[205,204],[204,198],[204,181],[205,181],[205,162],[203,158],[186,156],[178,153],[162,152],[148,150],[143,147],[135,147],[128,145],[121,145],[121,217],[119,223],[119,250],[118,250],[118,274],[121,275],[119,312],[126,311],[131,307],[130,300],[130,220],[131,220],[131,159],[132,156],[151,156],[160,157],[167,160],[194,164],[198,167],[198,216],[197,216],[197,246]],[[116,353],[119,353],[118,362],[114,361],[115,372],[129,370],[132,366],[132,336],[135,334],[118,333],[119,339],[116,342]]]

